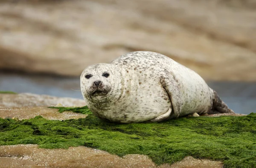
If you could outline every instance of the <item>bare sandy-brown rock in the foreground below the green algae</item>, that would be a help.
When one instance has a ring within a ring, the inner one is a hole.
[[[218,161],[185,157],[172,165],[156,166],[147,156],[129,154],[118,157],[106,151],[84,146],[65,149],[43,149],[37,145],[0,146],[1,168],[222,168]]]

